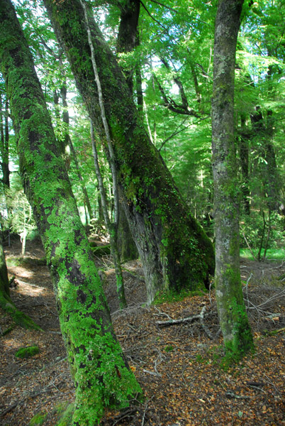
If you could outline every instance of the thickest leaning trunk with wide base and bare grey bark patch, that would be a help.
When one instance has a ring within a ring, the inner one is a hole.
[[[91,120],[102,134],[81,0],[45,0],[57,37],[65,48]],[[162,288],[194,289],[213,273],[211,241],[191,216],[169,170],[150,142],[121,69],[91,11],[89,27],[101,82],[106,119],[116,157],[118,185],[151,302]]]

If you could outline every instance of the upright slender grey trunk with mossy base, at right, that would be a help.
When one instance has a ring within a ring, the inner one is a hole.
[[[239,199],[234,139],[235,50],[243,0],[220,0],[216,16],[212,145],[216,229],[216,298],[225,349],[252,349],[240,280]]]

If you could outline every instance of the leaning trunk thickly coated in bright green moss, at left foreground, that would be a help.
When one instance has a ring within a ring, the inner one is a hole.
[[[23,185],[45,247],[76,387],[74,425],[140,392],[116,341],[101,282],[52,130],[40,83],[10,0],[0,0],[0,66]]]

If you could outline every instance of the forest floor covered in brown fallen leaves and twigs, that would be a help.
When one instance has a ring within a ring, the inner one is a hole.
[[[6,248],[10,265],[20,249],[19,242]],[[74,386],[50,275],[36,261],[44,256],[40,244],[29,242],[26,256],[29,261],[9,266],[9,274],[16,275],[11,297],[43,332],[15,326],[0,312],[0,425],[55,426],[66,403],[74,400]],[[143,271],[133,261],[124,264],[129,307],[120,312],[111,258],[96,258],[96,263],[105,271],[116,334],[145,393],[144,403],[122,413],[107,412],[101,425],[285,425],[285,295],[284,281],[277,279],[285,273],[285,263],[242,261],[256,352],[228,368],[221,364],[220,335],[215,340],[207,336],[218,331],[213,290],[147,307]],[[157,324],[202,310],[203,321],[200,317],[170,327]],[[18,349],[33,344],[39,354],[16,358]]]

